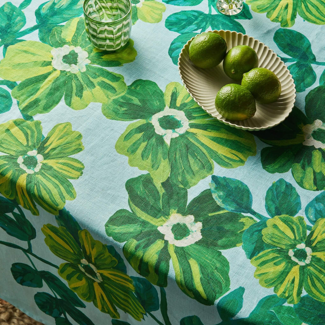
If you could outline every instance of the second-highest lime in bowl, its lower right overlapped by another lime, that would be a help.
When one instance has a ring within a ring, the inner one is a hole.
[[[258,67],[258,56],[252,47],[237,45],[231,48],[223,61],[223,68],[227,76],[240,81],[243,73]]]

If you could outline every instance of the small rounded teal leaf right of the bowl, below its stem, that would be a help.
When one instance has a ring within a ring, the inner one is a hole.
[[[288,66],[292,78],[294,79],[294,84],[296,85],[296,91],[301,93],[306,90],[306,88],[314,85],[316,81],[316,73],[309,63],[296,62]]]

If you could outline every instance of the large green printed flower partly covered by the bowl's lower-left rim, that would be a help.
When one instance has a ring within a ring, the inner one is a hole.
[[[190,188],[211,175],[214,162],[225,168],[243,165],[256,154],[253,136],[213,119],[173,82],[165,93],[149,80],[136,80],[124,95],[102,106],[113,120],[132,121],[117,140],[117,152],[130,166],[149,171],[157,181]]]

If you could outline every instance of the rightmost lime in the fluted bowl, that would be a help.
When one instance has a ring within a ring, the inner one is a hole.
[[[248,89],[261,104],[273,103],[281,94],[279,78],[265,68],[255,68],[244,73],[241,85]]]

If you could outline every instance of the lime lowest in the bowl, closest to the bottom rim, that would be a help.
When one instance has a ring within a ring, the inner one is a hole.
[[[215,108],[230,121],[247,120],[256,112],[253,95],[237,84],[225,85],[218,91]]]

